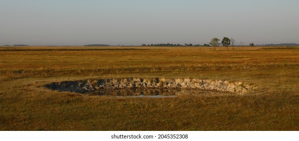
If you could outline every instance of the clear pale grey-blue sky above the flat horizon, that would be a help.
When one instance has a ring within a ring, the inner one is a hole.
[[[0,0],[0,45],[299,43],[298,0]]]

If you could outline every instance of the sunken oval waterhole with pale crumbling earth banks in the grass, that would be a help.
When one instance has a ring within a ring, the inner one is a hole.
[[[45,87],[62,92],[92,93],[94,95],[176,95],[185,90],[211,90],[245,94],[253,84],[202,79],[119,78],[54,82]]]

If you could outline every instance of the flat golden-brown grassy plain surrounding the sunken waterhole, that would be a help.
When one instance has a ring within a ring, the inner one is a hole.
[[[0,47],[0,130],[299,130],[298,47]],[[51,91],[95,78],[253,83],[169,98]]]

